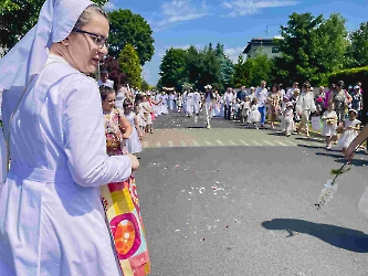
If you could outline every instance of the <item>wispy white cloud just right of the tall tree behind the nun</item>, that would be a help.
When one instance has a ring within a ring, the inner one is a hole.
[[[191,0],[172,0],[162,3],[160,10],[164,19],[156,23],[157,31],[175,22],[190,21],[208,15],[206,1],[194,4]]]

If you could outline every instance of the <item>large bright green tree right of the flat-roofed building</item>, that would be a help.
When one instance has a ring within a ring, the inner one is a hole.
[[[314,85],[327,81],[328,74],[344,66],[348,46],[345,19],[333,13],[328,19],[312,13],[293,13],[281,26],[277,40],[282,52],[275,57],[275,77],[287,84],[309,79]]]

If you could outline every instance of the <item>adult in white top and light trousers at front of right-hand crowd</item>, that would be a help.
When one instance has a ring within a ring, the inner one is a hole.
[[[296,102],[296,112],[302,116],[297,132],[299,134],[302,128],[305,128],[305,136],[309,137],[309,116],[316,112],[309,82],[303,84],[303,92]]]

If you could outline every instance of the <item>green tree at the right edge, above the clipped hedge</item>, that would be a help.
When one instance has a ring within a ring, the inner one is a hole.
[[[368,65],[368,22],[360,24],[359,29],[351,32],[350,57],[351,67]]]

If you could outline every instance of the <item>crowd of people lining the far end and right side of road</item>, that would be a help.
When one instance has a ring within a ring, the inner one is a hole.
[[[361,126],[364,91],[360,82],[345,89],[345,84],[340,81],[332,84],[327,91],[319,87],[317,93],[313,92],[309,82],[305,82],[301,87],[294,82],[293,87],[287,91],[282,84],[266,87],[265,81],[249,91],[245,86],[238,91],[228,87],[220,94],[212,89],[211,85],[204,86],[204,93],[198,89],[187,89],[183,93],[130,92],[130,97],[137,94],[136,103],[140,103],[141,97],[143,102],[148,103],[147,107],[136,108],[137,116],[143,118],[148,116],[148,113],[154,119],[161,114],[168,114],[168,110],[175,110],[193,117],[197,124],[204,109],[207,128],[210,128],[213,117],[240,121],[245,127],[256,129],[264,128],[266,123],[274,129],[275,123],[280,121],[280,130],[285,136],[304,132],[309,137],[311,119],[317,118],[316,125],[320,123],[320,134],[326,138],[326,149],[335,147],[343,151],[357,136]],[[146,115],[141,114],[141,110],[146,112]],[[148,117],[146,120],[151,123]],[[144,132],[145,120],[140,125]]]

